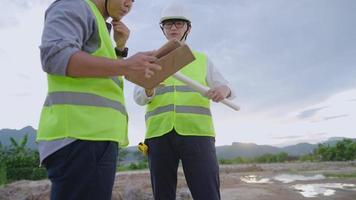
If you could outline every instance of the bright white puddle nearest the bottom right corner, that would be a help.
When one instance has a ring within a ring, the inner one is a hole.
[[[304,197],[316,197],[318,195],[332,196],[335,194],[335,189],[355,189],[354,184],[344,183],[324,183],[324,184],[297,184],[292,188],[298,190]]]

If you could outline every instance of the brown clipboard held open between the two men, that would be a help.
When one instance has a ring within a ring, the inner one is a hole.
[[[190,48],[178,40],[172,40],[164,44],[157,50],[155,56],[158,58],[157,64],[160,65],[162,69],[155,72],[151,78],[146,78],[141,74],[137,74],[125,77],[125,79],[145,89],[153,89],[168,77],[195,60]]]

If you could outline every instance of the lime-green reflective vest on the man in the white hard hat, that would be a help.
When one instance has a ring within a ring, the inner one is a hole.
[[[196,60],[180,72],[207,86],[207,59],[194,52]],[[215,136],[210,112],[210,100],[191,87],[174,79],[164,81],[165,86],[155,91],[146,109],[146,138],[162,136],[173,128],[180,135]]]

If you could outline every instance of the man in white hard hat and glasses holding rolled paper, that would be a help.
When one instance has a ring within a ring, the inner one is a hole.
[[[178,2],[162,11],[160,26],[168,40],[181,42],[192,28],[191,18]],[[180,73],[212,88],[205,96],[172,77],[153,90],[135,87],[136,103],[147,105],[145,144],[156,200],[175,199],[180,160],[193,199],[220,199],[210,99],[219,102],[234,94],[204,53],[194,51],[194,56],[196,60]]]

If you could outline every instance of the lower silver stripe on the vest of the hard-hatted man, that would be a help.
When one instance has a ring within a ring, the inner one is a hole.
[[[170,104],[167,106],[158,107],[150,112],[147,112],[145,115],[145,119],[159,115],[165,112],[174,111],[174,105]],[[199,114],[199,115],[208,115],[211,116],[211,112],[209,108],[204,108],[201,106],[175,106],[176,113],[190,113],[190,114]]]

